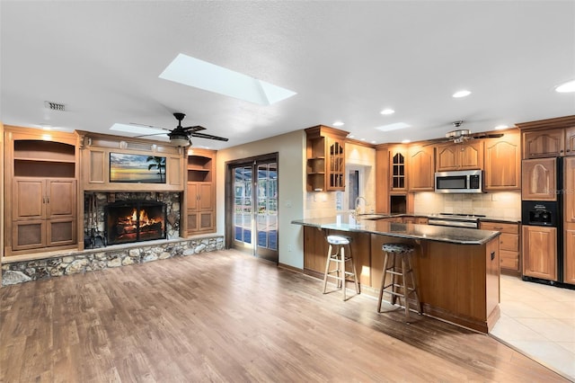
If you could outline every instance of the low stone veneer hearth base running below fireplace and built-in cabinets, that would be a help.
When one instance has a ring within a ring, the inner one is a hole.
[[[224,249],[223,236],[111,245],[49,258],[2,264],[2,286]]]

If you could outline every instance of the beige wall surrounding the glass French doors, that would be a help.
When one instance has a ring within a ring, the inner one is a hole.
[[[303,229],[299,225],[291,224],[293,219],[304,218],[305,130],[303,129],[217,152],[217,233],[225,234],[226,162],[275,152],[279,153],[279,263],[303,269]]]

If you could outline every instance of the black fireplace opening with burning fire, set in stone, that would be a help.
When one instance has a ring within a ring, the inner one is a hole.
[[[104,208],[108,245],[151,241],[166,237],[166,206],[150,200],[121,200]]]

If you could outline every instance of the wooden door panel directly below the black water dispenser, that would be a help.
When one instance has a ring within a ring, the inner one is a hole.
[[[557,228],[522,228],[523,275],[557,281]]]

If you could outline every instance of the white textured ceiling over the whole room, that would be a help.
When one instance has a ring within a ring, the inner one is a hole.
[[[575,94],[554,92],[575,79],[573,1],[2,0],[0,19],[9,125],[117,134],[172,129],[181,111],[229,138],[193,139],[217,149],[335,120],[379,144],[575,114]],[[179,53],[297,94],[261,106],[159,78]],[[395,122],[411,128],[374,129]]]

